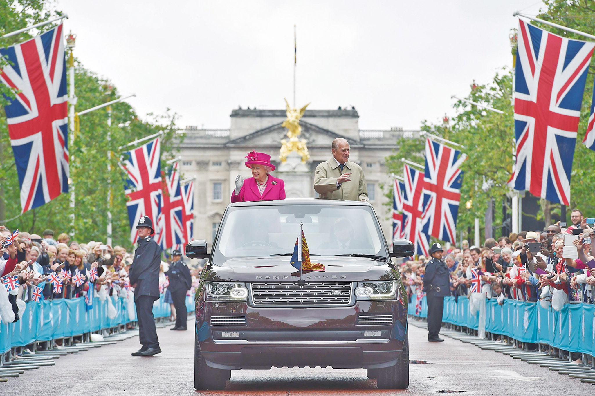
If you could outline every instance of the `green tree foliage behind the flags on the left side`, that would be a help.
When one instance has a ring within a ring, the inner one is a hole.
[[[5,4],[0,5],[6,7]],[[21,20],[23,11],[30,9],[27,23],[17,23]],[[20,29],[26,25],[37,23],[58,14],[50,13],[43,7],[43,2],[18,1],[8,7],[8,14],[0,11],[0,21],[5,18],[13,21],[5,32]],[[8,15],[8,16],[7,16]],[[49,30],[55,25],[46,26]],[[1,31],[0,31],[1,32]],[[11,37],[11,42],[0,42],[1,46],[11,45],[30,38],[27,34],[19,34],[17,39]],[[76,49],[74,50],[76,54]],[[75,59],[75,92],[78,98],[76,111],[92,108],[119,98],[120,92],[111,86],[108,80],[99,78],[97,74],[85,69]],[[5,89],[3,86],[2,89]],[[6,92],[3,92],[6,94]],[[8,92],[8,95],[12,93]],[[80,116],[80,133],[74,139],[74,145],[69,146],[71,186],[75,191],[74,231],[75,239],[79,241],[101,240],[107,237],[107,212],[112,213],[112,238],[114,244],[130,247],[130,228],[126,212],[126,195],[124,194],[123,172],[118,166],[118,159],[124,150],[134,148],[120,148],[126,143],[144,136],[163,131],[161,137],[162,169],[165,160],[174,156],[174,140],[183,139],[177,134],[176,114],[149,114],[147,120],[142,120],[133,108],[126,103],[115,103],[111,106],[111,127],[108,126],[108,108],[98,109]],[[72,131],[70,131],[72,133]],[[108,140],[109,134],[109,140]],[[0,192],[4,204],[2,219],[11,218],[21,211],[20,190],[14,158],[8,137],[8,127],[4,111],[0,115]],[[111,158],[108,158],[111,152]],[[111,169],[108,171],[108,166]],[[108,205],[108,191],[111,188],[111,202]],[[70,194],[61,194],[57,199],[46,205],[29,210],[20,217],[8,222],[8,228],[18,228],[21,231],[40,234],[43,229],[51,228],[55,232],[71,230]]]

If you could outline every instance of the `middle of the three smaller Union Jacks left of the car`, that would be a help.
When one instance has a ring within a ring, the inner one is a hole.
[[[163,249],[184,243],[184,209],[180,192],[179,162],[174,162],[170,174],[163,177],[163,194],[161,195],[161,213],[157,219],[155,241]]]

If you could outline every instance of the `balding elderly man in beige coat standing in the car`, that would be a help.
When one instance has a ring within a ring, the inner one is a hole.
[[[333,158],[318,164],[314,190],[321,198],[368,202],[364,170],[349,161],[349,142],[337,137],[331,145]]]

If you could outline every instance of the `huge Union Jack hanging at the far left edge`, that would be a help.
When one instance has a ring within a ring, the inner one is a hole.
[[[68,103],[62,25],[0,49],[0,81],[23,213],[68,192]]]

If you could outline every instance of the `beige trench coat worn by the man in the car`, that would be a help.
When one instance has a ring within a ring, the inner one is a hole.
[[[314,190],[321,198],[359,201],[368,200],[368,188],[364,169],[355,162],[347,161],[343,173],[351,172],[351,181],[345,181],[337,188],[337,178],[341,175],[341,168],[334,158],[321,162],[314,174]]]

